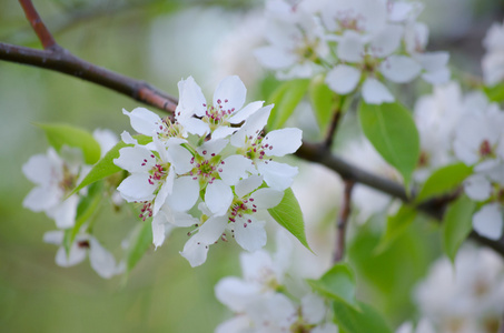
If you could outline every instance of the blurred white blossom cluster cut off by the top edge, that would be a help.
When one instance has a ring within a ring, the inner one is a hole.
[[[339,94],[360,87],[367,103],[393,102],[384,79],[406,83],[421,75],[433,84],[449,79],[448,53],[425,52],[428,28],[416,21],[422,9],[411,1],[270,0],[269,46],[256,56],[279,79],[325,73]]]

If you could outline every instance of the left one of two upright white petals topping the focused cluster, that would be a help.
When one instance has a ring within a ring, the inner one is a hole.
[[[179,101],[175,110],[175,118],[180,121],[180,119],[190,118],[192,114],[198,117],[205,115],[207,101],[201,92],[201,88],[195,82],[195,79],[189,77],[186,80],[180,80],[177,85]]]

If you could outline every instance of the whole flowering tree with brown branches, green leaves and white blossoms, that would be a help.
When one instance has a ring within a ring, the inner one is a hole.
[[[436,263],[417,292],[418,324],[406,322],[397,332],[504,332],[503,24],[488,30],[483,79],[464,93],[463,82],[451,80],[448,52],[427,51],[428,28],[417,21],[419,2],[268,0],[264,42],[249,51],[275,77],[269,78],[274,84],[264,97],[268,102],[247,102],[247,88],[234,74],[207,99],[187,73],[175,98],[88,63],[56,42],[30,0],[19,2],[43,50],[0,42],[0,60],[78,77],[150,109],[118,112],[132,129],[120,138],[107,130],[38,124],[50,148],[22,167],[36,185],[23,205],[55,220],[57,230],[43,240],[59,246],[58,265],[89,256],[91,268],[109,279],[131,271],[146,251],[184,228],[188,240],[180,254],[191,266],[205,264],[210,246],[221,242],[236,241],[236,252],[245,250],[243,278],[223,276],[215,286],[217,300],[234,313],[216,332],[392,332],[379,309],[358,296],[359,276],[346,253],[348,223],[355,222],[354,233],[362,232],[353,209],[366,204],[357,193],[364,185],[373,195],[386,195],[386,213],[378,214],[382,238],[370,252],[386,251],[418,216],[428,216],[441,223],[442,246],[453,264]],[[418,79],[431,94],[416,97],[412,112],[401,88]],[[303,124],[296,123],[303,100],[310,103],[318,141],[303,138]],[[360,167],[334,148],[342,122],[352,114],[365,142],[352,149],[373,151],[376,165],[366,158],[369,165]],[[298,260],[294,246],[312,251],[305,234],[309,225],[291,190],[298,167],[285,159],[289,154],[324,165],[344,183],[335,243],[326,249],[333,262],[317,279],[289,271]],[[377,164],[393,179],[377,172]],[[367,200],[381,200],[373,195]],[[105,196],[134,210],[138,220],[120,259],[93,234],[91,216]],[[280,226],[276,253],[263,249],[275,239],[267,231],[273,223]],[[463,248],[457,255],[466,240],[482,248]],[[484,281],[484,289],[471,278],[482,273],[467,269],[471,261],[494,272],[474,278]],[[433,311],[443,290],[432,290],[445,280],[432,280],[443,270],[465,280],[451,286],[453,295],[441,303],[446,305]],[[473,285],[480,287],[477,296],[455,292]],[[451,325],[456,320],[459,331]]]

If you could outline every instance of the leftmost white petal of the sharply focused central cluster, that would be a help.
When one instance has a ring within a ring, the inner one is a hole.
[[[125,147],[119,150],[113,164],[132,173],[147,172],[156,164],[156,157],[142,147]]]

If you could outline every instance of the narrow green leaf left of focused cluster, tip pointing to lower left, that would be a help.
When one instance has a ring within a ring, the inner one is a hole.
[[[139,144],[147,144],[152,141],[152,138],[147,135],[135,135],[134,137]],[[73,191],[69,194],[75,194],[93,182],[102,180],[106,176],[112,175],[116,172],[121,171],[119,167],[113,164],[113,160],[119,158],[119,150],[125,147],[130,147],[131,144],[126,144],[120,141],[115,147],[112,147],[105,157],[96,163],[85,179],[78,184]]]

